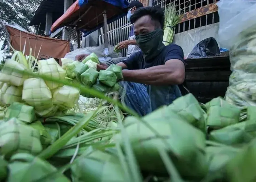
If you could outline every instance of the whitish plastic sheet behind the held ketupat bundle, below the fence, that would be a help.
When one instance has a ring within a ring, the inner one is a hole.
[[[104,44],[102,44],[97,47],[86,47],[86,48],[76,49],[74,51],[67,53],[64,58],[69,58],[69,59],[75,60],[76,55],[90,54],[93,52],[99,57],[100,61],[104,61],[109,58],[117,58],[117,57],[122,56],[121,53],[114,52],[113,45],[109,44],[108,48],[105,48]]]

